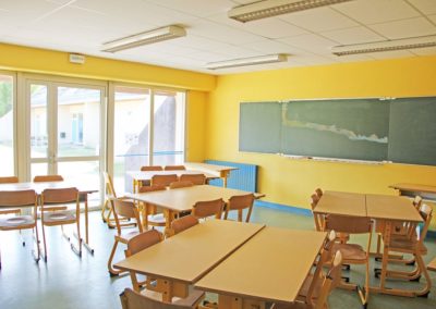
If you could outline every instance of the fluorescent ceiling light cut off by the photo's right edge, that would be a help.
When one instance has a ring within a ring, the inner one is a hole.
[[[331,53],[340,57],[340,55],[349,55],[356,53],[392,51],[392,50],[424,48],[424,47],[436,47],[436,36],[336,46],[331,48]]]

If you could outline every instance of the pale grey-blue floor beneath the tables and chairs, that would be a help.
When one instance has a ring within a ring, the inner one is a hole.
[[[289,212],[256,207],[253,221],[286,228],[313,228],[313,219]],[[113,230],[101,222],[99,212],[90,213],[90,243],[95,248],[92,256],[84,251],[78,258],[60,235],[59,227],[48,228],[48,262],[35,263],[31,257],[32,232],[23,232],[26,247],[20,243],[17,232],[0,233],[2,270],[0,271],[0,308],[121,308],[118,295],[131,286],[130,277],[110,277],[107,259],[113,244]],[[354,239],[353,239],[354,240]],[[355,239],[363,242],[364,239]],[[292,239],[290,239],[292,242]],[[436,257],[435,239],[427,239],[426,262]],[[279,255],[280,252],[278,252]],[[123,257],[120,248],[116,258]],[[372,267],[379,267],[372,260]],[[355,267],[349,273],[352,281],[363,283],[363,268]],[[431,272],[436,282],[436,272]],[[265,284],[274,284],[266,282]],[[377,284],[372,279],[372,284]],[[419,288],[422,283],[389,282],[391,286]],[[330,308],[361,308],[355,292],[334,291],[329,298]],[[436,287],[428,298],[407,298],[371,295],[368,308],[436,308]]]

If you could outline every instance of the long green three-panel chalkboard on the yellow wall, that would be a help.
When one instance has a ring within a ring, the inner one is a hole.
[[[436,97],[241,103],[240,150],[436,165]]]

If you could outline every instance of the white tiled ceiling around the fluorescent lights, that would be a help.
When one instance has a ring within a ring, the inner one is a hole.
[[[255,0],[0,0],[0,41],[211,74],[436,54],[436,48],[338,58],[332,46],[436,35],[436,0],[354,0],[242,24]],[[170,24],[187,36],[117,53],[101,45]],[[207,62],[270,53],[288,62],[209,71]],[[1,60],[0,60],[1,62]]]

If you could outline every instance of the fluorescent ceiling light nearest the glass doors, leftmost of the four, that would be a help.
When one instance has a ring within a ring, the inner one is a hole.
[[[150,32],[145,32],[137,35],[105,42],[102,45],[101,51],[117,52],[129,48],[134,48],[147,44],[154,44],[184,36],[186,36],[186,30],[183,27],[167,26]]]

